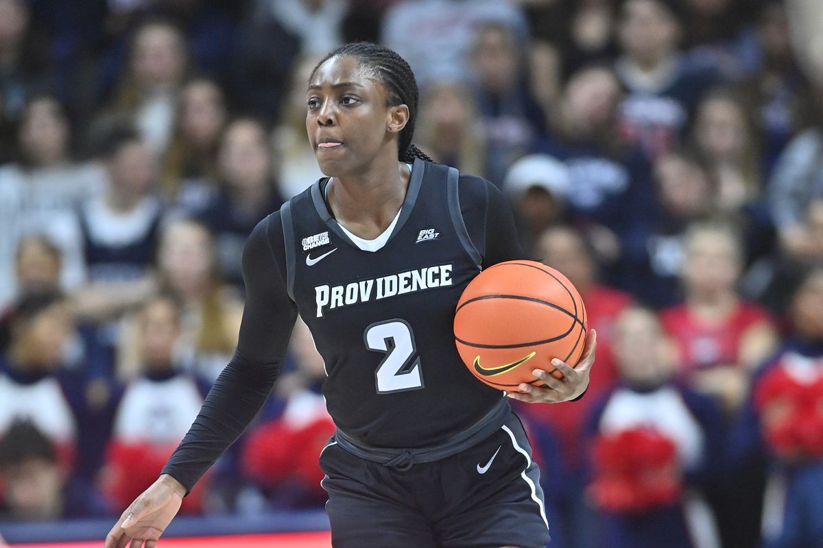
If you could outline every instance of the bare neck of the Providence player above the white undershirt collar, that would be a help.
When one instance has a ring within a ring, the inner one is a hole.
[[[355,177],[329,179],[329,210],[351,233],[374,239],[384,232],[406,199],[409,178],[406,164],[393,161],[374,166]]]

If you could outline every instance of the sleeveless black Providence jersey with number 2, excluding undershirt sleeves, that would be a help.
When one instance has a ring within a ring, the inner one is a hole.
[[[455,307],[482,264],[461,214],[472,204],[461,203],[458,177],[454,168],[416,160],[378,251],[360,250],[332,218],[326,179],[281,209],[288,291],[325,361],[328,411],[369,444],[437,443],[502,397],[467,371],[454,345]]]

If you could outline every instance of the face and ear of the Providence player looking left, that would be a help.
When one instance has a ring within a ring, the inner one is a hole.
[[[355,58],[328,59],[306,91],[306,131],[329,177],[364,173],[380,154],[397,154],[398,108]],[[403,120],[400,129],[405,125]]]

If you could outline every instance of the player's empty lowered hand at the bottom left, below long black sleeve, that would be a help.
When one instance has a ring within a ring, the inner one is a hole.
[[[182,483],[163,474],[123,512],[106,535],[103,548],[155,548],[185,494]]]

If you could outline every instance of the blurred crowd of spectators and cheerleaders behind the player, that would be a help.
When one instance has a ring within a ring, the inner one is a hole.
[[[504,191],[597,329],[583,400],[518,406],[552,546],[823,546],[823,74],[792,2],[0,0],[0,519],[156,478],[234,351],[245,238],[322,176],[309,71],[366,39],[415,71],[416,145]],[[323,377],[299,322],[183,511],[322,508]]]

